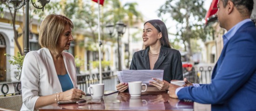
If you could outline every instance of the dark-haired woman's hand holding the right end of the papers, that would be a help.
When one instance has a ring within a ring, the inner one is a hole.
[[[152,78],[155,81],[149,81],[149,85],[153,85],[155,87],[157,87],[159,90],[167,90],[169,87],[169,84],[167,81],[163,80],[158,80],[156,78]]]

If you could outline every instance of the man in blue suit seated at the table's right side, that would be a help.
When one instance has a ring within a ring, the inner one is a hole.
[[[253,0],[219,0],[216,16],[224,47],[212,73],[211,84],[185,87],[170,84],[169,96],[212,104],[222,111],[256,111],[256,26],[250,20]],[[213,109],[214,110],[214,109]]]

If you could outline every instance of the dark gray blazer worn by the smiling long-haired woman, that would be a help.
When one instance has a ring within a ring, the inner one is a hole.
[[[149,48],[134,53],[130,70],[150,69],[148,50]],[[176,49],[161,46],[160,54],[153,70],[155,69],[164,70],[163,80],[168,82],[171,80],[183,80],[181,53]]]

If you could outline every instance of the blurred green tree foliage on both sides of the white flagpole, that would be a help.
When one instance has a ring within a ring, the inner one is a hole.
[[[88,32],[85,36],[90,37],[94,43],[87,44],[98,44],[98,5],[94,5],[96,3],[92,1],[84,0],[62,0],[62,2],[62,12],[68,18],[72,19],[75,27],[77,27],[75,30]],[[105,55],[103,50],[104,44],[107,41],[113,43],[117,42],[116,37],[110,37],[108,34],[104,33],[105,25],[108,23],[115,24],[116,22],[123,20],[128,25],[127,27],[129,30],[129,27],[137,22],[138,19],[142,19],[140,12],[135,9],[136,5],[136,3],[128,3],[122,6],[120,0],[105,0],[104,6],[100,7],[101,42],[103,43],[101,50],[103,53],[103,60]],[[125,20],[124,17],[126,16],[128,19]],[[87,46],[91,47],[91,45]]]

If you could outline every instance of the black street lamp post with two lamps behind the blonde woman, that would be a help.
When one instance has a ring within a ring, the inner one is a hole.
[[[25,48],[24,48],[24,54],[26,55],[29,52],[29,13],[28,13],[28,9],[29,9],[29,0],[10,0],[10,2],[13,4],[14,9],[18,10],[20,9],[22,6],[25,6],[26,4],[26,18],[25,18]],[[44,6],[50,2],[50,0],[38,0],[38,2],[40,2],[41,6],[37,6],[33,0],[31,0],[32,5],[37,8],[37,9],[42,9],[42,11],[44,11]]]

